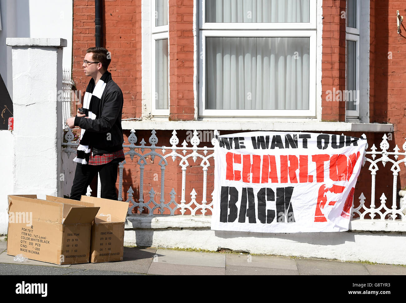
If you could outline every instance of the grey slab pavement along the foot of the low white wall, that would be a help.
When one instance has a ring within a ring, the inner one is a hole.
[[[0,241],[0,275],[406,275],[406,267],[282,256],[124,247],[121,262],[15,262]]]

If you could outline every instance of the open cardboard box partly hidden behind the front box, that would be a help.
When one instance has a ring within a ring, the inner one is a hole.
[[[47,196],[46,199],[100,207],[92,225],[90,262],[123,260],[124,224],[130,203],[88,196],[82,196],[80,201],[52,196]]]

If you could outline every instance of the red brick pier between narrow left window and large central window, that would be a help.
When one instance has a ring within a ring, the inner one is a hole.
[[[172,121],[194,119],[193,0],[169,0],[169,87]]]

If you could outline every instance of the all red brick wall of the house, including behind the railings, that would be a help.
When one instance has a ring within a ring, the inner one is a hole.
[[[395,144],[400,148],[406,137],[406,126],[402,119],[406,115],[406,105],[402,96],[406,93],[406,44],[402,35],[396,32],[395,13],[399,2],[395,0],[371,0],[371,33],[370,33],[370,120],[371,122],[389,122],[395,125],[393,140],[389,141],[390,151]],[[341,12],[345,11],[345,0],[323,1],[323,34],[322,34],[322,120],[344,121],[345,102],[326,101],[326,91],[344,90],[345,82],[345,19]],[[400,13],[406,15],[406,10]],[[73,6],[73,79],[77,89],[84,90],[89,81],[83,74],[82,60],[86,49],[94,46],[94,1],[74,0]],[[109,70],[114,81],[124,93],[123,119],[140,117],[141,115],[141,0],[104,1],[104,43],[112,53],[112,63]],[[406,36],[406,35],[404,35]],[[193,92],[193,0],[169,0],[169,49],[170,49],[170,120],[194,119]],[[392,59],[388,58],[392,52]],[[305,130],[304,130],[305,131]],[[222,131],[221,133],[232,133]],[[148,144],[150,131],[137,131],[138,144],[144,138]],[[341,134],[341,132],[337,132]],[[361,136],[361,133],[345,133],[346,135]],[[125,142],[129,131],[125,131]],[[383,133],[366,133],[369,147],[375,144],[379,148]],[[157,131],[158,145],[170,146],[171,131]],[[182,142],[186,131],[178,131]],[[204,145],[211,146],[210,143]],[[203,146],[203,145],[202,145]],[[127,150],[125,150],[127,151]],[[136,162],[126,157],[123,175],[123,197],[127,199],[127,189],[132,186],[134,198],[138,199],[140,169]],[[144,173],[144,202],[149,200],[148,191],[154,188],[155,201],[160,199],[160,167],[155,159],[154,164],[145,166]],[[176,201],[181,197],[181,169],[179,160],[172,164],[168,159],[165,182],[165,201],[169,201],[172,188],[176,191]],[[198,191],[197,200],[201,201],[203,174],[199,164],[190,161],[186,174],[186,201],[190,201],[190,191]],[[391,181],[393,175],[387,165],[380,165],[377,175],[376,201],[382,192],[391,201]],[[389,167],[390,168],[390,167]],[[154,175],[158,173],[158,179]],[[383,177],[382,177],[383,176]],[[398,189],[406,186],[406,170],[402,167],[398,178]],[[211,200],[213,186],[212,168],[208,172],[207,200]],[[371,175],[367,167],[363,167],[357,183],[354,197],[358,199],[363,192],[370,200]],[[376,203],[376,205],[379,205]]]

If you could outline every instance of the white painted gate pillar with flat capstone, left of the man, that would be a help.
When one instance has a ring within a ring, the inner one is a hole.
[[[13,193],[61,192],[62,52],[60,38],[7,38],[12,47]]]

